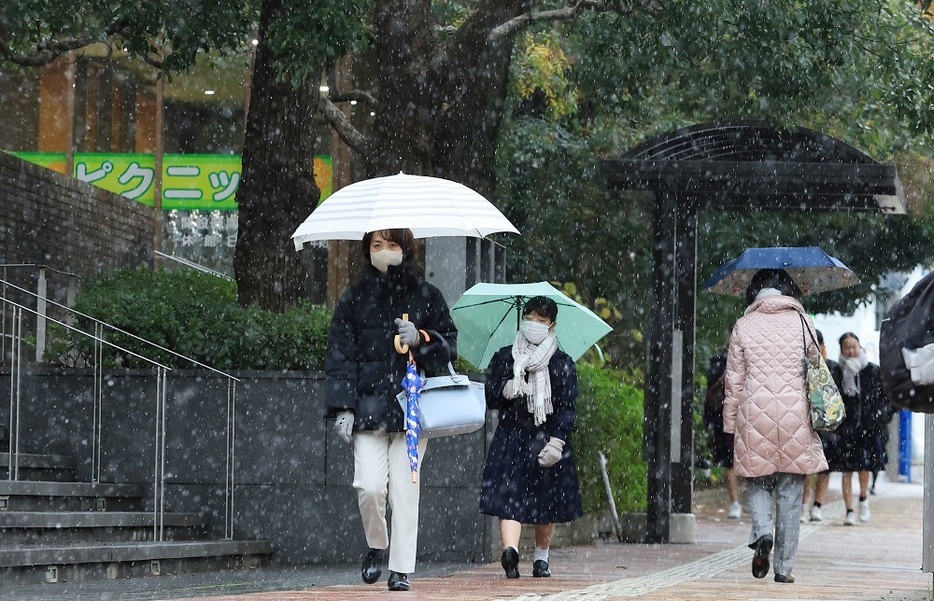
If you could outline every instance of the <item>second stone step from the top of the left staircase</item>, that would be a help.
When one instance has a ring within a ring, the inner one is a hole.
[[[138,511],[140,484],[0,480],[0,511]]]

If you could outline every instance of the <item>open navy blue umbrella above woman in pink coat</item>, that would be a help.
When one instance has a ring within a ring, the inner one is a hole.
[[[839,259],[817,246],[747,248],[739,257],[717,268],[704,290],[743,296],[760,269],[782,269],[802,294],[814,294],[859,284],[859,278]]]

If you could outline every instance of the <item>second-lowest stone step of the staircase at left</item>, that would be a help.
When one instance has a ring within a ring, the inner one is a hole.
[[[0,544],[61,544],[93,541],[152,541],[152,512],[132,511],[4,511],[0,512]],[[203,539],[207,525],[197,513],[164,513],[165,540]]]

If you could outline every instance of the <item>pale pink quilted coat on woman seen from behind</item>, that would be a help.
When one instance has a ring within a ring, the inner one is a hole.
[[[775,472],[814,474],[827,469],[820,437],[811,428],[804,392],[804,341],[790,296],[753,302],[730,336],[723,431],[734,433],[733,468],[743,477]],[[808,337],[808,354],[819,351]]]

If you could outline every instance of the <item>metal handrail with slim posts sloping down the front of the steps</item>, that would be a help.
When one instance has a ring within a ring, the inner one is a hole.
[[[23,265],[25,266],[25,265]],[[20,382],[21,382],[21,352],[22,352],[22,312],[26,311],[33,315],[36,315],[37,318],[47,319],[53,323],[56,323],[70,331],[76,332],[82,336],[86,336],[94,340],[94,392],[93,392],[93,419],[92,419],[92,436],[94,437],[94,444],[92,445],[92,459],[91,459],[91,478],[95,483],[100,482],[100,466],[101,466],[101,444],[102,444],[102,406],[103,406],[103,370],[102,370],[102,358],[103,358],[103,345],[118,349],[128,355],[136,357],[146,363],[151,364],[156,369],[157,383],[156,383],[156,432],[155,432],[155,466],[153,470],[153,538],[155,540],[163,540],[164,537],[164,513],[165,513],[165,448],[166,448],[166,430],[165,430],[165,419],[166,419],[166,384],[167,384],[167,373],[171,371],[171,368],[150,359],[149,357],[140,355],[134,351],[126,349],[120,345],[114,344],[104,337],[104,328],[108,328],[110,331],[118,332],[125,336],[128,336],[134,340],[142,342],[152,348],[159,349],[165,353],[168,353],[178,359],[182,359],[206,369],[208,371],[214,372],[221,376],[227,378],[227,443],[225,448],[226,454],[226,468],[225,468],[225,484],[224,484],[224,537],[233,538],[234,531],[234,449],[236,443],[236,430],[235,430],[235,416],[236,416],[236,383],[240,381],[239,378],[228,374],[224,371],[211,367],[187,357],[180,353],[173,351],[172,349],[165,348],[159,344],[146,340],[132,332],[127,332],[121,328],[108,324],[104,321],[101,321],[91,315],[87,315],[80,311],[77,311],[71,307],[62,305],[55,301],[49,300],[40,295],[17,286],[11,282],[8,282],[4,279],[0,279],[0,285],[3,286],[3,289],[6,290],[8,287],[18,290],[26,295],[36,298],[37,307],[41,306],[40,301],[45,301],[46,303],[52,304],[53,306],[59,307],[67,312],[68,315],[80,316],[85,319],[90,320],[94,323],[95,333],[90,334],[77,328],[71,324],[53,319],[40,313],[37,309],[31,309],[25,305],[17,303],[13,300],[6,298],[5,295],[0,294],[0,300],[3,301],[4,309],[9,305],[13,307],[13,311],[16,314],[14,317],[14,328],[16,330],[16,335],[14,337],[14,352],[11,353],[10,367],[11,367],[11,380],[10,380],[10,468],[9,468],[9,479],[19,479],[19,408],[20,408]],[[4,324],[5,327],[5,324]],[[16,416],[16,421],[14,423],[13,416]],[[15,428],[15,430],[14,430]],[[16,442],[16,448],[13,448],[14,440]],[[15,452],[14,452],[15,451]]]

